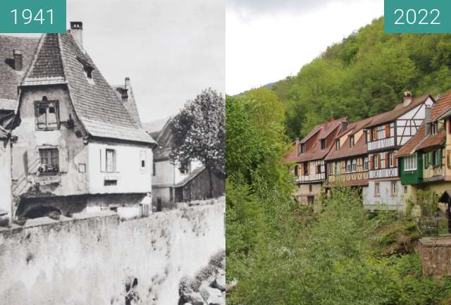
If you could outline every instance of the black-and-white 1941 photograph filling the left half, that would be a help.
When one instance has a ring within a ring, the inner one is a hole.
[[[224,10],[0,34],[0,304],[226,304]]]

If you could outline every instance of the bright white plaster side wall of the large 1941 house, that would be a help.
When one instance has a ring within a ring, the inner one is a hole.
[[[146,193],[152,191],[153,153],[150,147],[111,142],[89,142],[89,192],[91,194]],[[101,155],[106,149],[116,151],[116,171],[101,170]],[[144,151],[145,168],[141,168]],[[105,180],[117,180],[117,185],[104,185]]]

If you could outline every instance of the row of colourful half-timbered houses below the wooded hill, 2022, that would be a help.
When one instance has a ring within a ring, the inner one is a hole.
[[[295,197],[303,204],[341,185],[360,189],[366,208],[405,212],[418,189],[449,202],[450,149],[451,92],[437,100],[405,92],[391,111],[316,125],[295,141],[285,161],[292,164]]]

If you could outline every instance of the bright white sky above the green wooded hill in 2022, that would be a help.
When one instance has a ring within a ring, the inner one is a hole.
[[[297,74],[381,15],[383,0],[227,0],[227,94]]]

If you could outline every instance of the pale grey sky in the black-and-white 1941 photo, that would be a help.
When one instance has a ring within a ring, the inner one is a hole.
[[[112,85],[130,81],[142,122],[225,92],[225,0],[67,0],[83,46]]]

